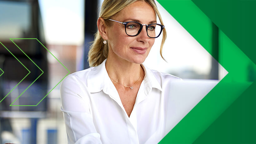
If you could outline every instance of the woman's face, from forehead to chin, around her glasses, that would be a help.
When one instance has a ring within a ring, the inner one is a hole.
[[[141,24],[156,23],[156,15],[153,7],[144,1],[137,1],[122,9],[111,19],[120,22],[140,22]],[[127,60],[132,63],[141,64],[148,56],[155,39],[147,36],[146,26],[143,26],[137,36],[128,36],[125,25],[112,22],[107,28],[109,56],[115,56],[119,60]],[[120,59],[121,58],[121,59]]]

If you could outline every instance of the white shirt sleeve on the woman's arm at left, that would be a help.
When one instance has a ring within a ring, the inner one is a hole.
[[[60,109],[66,125],[68,144],[102,144],[90,113],[90,93],[85,88],[74,75],[68,75],[60,86]]]

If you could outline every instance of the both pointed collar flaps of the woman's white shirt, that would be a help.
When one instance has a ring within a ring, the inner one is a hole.
[[[108,88],[112,82],[106,71],[106,60],[107,59],[105,59],[100,65],[94,67],[88,74],[87,88],[90,93],[96,93],[103,90],[104,93],[108,94]],[[145,71],[144,85],[147,94],[152,91],[152,88],[156,88],[162,91],[162,88],[152,71],[144,64],[142,64],[142,68]]]

